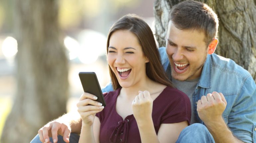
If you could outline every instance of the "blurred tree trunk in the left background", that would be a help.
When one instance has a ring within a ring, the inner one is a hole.
[[[58,25],[58,1],[16,0],[17,93],[1,143],[28,143],[66,112],[68,60]]]

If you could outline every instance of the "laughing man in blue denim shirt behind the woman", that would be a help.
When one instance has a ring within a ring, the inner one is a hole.
[[[177,143],[256,142],[255,82],[234,61],[213,54],[217,31],[217,16],[207,5],[185,1],[172,8],[167,44],[159,52],[169,78],[192,105],[192,125],[181,132]],[[102,89],[110,90],[111,84]],[[49,142],[52,134],[55,142],[73,143],[79,136],[69,138],[70,130],[79,134],[80,129],[79,117],[66,114],[38,133],[42,142]],[[64,137],[57,138],[57,132]],[[36,141],[38,136],[32,143]]]

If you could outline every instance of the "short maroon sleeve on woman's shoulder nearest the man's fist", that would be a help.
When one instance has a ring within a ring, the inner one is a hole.
[[[161,124],[180,123],[191,120],[191,103],[189,97],[182,92],[177,95],[175,100],[171,100],[171,104],[167,107],[161,118]]]

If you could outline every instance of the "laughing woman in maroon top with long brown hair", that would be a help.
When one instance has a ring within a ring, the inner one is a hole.
[[[147,23],[135,15],[119,19],[108,34],[107,61],[115,91],[104,94],[105,108],[94,95],[81,95],[79,143],[175,143],[189,125],[190,100],[165,76]]]

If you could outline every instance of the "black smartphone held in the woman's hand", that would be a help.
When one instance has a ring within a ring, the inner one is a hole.
[[[79,78],[83,87],[83,91],[98,97],[96,101],[106,106],[102,91],[99,86],[97,76],[94,72],[79,72]]]

